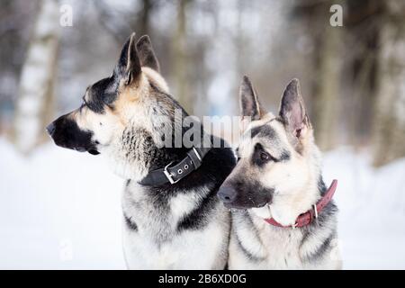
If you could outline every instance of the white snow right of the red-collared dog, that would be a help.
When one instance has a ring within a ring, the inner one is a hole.
[[[366,154],[340,148],[324,157],[338,179],[339,238],[346,269],[405,269],[405,158],[374,169]]]

